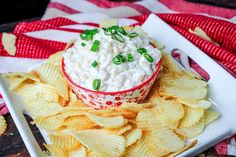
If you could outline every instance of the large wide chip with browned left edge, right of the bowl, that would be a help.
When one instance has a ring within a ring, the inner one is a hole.
[[[205,81],[182,73],[167,73],[160,78],[159,94],[175,98],[203,99],[207,94]]]

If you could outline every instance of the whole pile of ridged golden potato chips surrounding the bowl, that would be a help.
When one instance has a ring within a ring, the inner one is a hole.
[[[48,133],[51,143],[45,147],[53,156],[176,156],[196,145],[196,140],[187,140],[219,117],[205,99],[207,83],[181,71],[165,53],[144,103],[102,110],[87,107],[61,73],[62,54],[54,54],[30,73],[5,75],[10,90],[24,98],[33,123]]]

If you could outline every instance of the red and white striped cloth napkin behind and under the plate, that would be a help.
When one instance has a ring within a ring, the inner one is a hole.
[[[217,8],[183,0],[51,0],[43,20],[19,23],[12,32],[16,37],[16,55],[10,56],[1,43],[0,73],[27,71],[51,54],[64,49],[66,42],[84,29],[95,28],[104,19],[117,18],[119,25],[142,24],[156,13],[176,31],[236,75],[236,10]],[[200,27],[215,42],[189,33]],[[2,104],[2,105],[1,105]],[[0,114],[7,108],[0,97]],[[236,155],[236,136],[215,146],[218,154]]]

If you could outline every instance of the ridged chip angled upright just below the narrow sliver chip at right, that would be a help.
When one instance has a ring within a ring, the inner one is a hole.
[[[192,127],[204,116],[204,110],[185,106],[185,115],[179,123],[179,127]]]

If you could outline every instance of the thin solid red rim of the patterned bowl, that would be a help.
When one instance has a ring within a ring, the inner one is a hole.
[[[159,72],[160,70],[160,67],[161,67],[161,61],[159,61],[157,63],[157,68],[156,68],[156,71],[151,75],[151,77],[149,79],[147,79],[146,81],[144,81],[142,84],[138,85],[138,86],[135,86],[133,88],[130,88],[130,89],[126,89],[126,90],[122,90],[122,91],[118,91],[118,92],[102,92],[102,91],[95,91],[95,90],[90,90],[90,89],[87,89],[87,88],[84,88],[84,87],[81,87],[77,84],[75,84],[71,79],[70,77],[67,75],[67,73],[65,72],[65,69],[64,69],[64,66],[65,66],[65,63],[64,63],[64,57],[62,58],[62,64],[61,64],[61,68],[62,68],[62,73],[63,75],[66,77],[67,81],[69,81],[69,83],[71,83],[73,86],[76,86],[77,88],[80,88],[82,90],[85,90],[86,92],[93,92],[93,93],[96,93],[96,94],[102,94],[102,95],[117,95],[117,94],[123,94],[123,93],[127,93],[127,92],[132,92],[136,89],[139,89],[141,88],[142,86],[145,86],[146,84],[148,84],[152,79],[154,79],[154,77],[157,75],[157,73]]]

